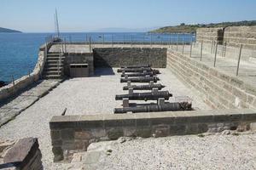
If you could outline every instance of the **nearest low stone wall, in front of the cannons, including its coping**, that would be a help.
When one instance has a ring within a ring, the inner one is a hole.
[[[64,153],[87,150],[90,143],[119,137],[245,131],[256,122],[253,110],[166,111],[137,114],[54,116],[49,122],[54,161]]]

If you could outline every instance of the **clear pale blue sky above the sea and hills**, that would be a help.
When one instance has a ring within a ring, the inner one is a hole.
[[[24,32],[150,30],[256,20],[256,0],[0,0],[0,27]]]

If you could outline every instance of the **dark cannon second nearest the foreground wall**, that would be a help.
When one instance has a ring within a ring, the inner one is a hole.
[[[160,98],[169,99],[172,97],[168,91],[160,91],[160,92],[149,92],[149,93],[133,93],[133,94],[118,94],[115,95],[115,100],[122,100],[124,98],[130,100],[157,100]]]

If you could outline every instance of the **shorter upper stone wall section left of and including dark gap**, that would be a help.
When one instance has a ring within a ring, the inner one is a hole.
[[[196,42],[212,43],[212,41],[219,41],[222,44],[224,37],[224,29],[219,28],[198,28],[196,30]]]

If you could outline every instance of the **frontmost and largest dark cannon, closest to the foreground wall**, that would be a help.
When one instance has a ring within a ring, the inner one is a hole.
[[[136,107],[124,107],[115,108],[114,113],[138,113],[138,112],[157,112],[157,111],[191,111],[192,104],[189,102],[174,102],[165,103],[162,105],[152,104],[152,105],[140,105]]]

